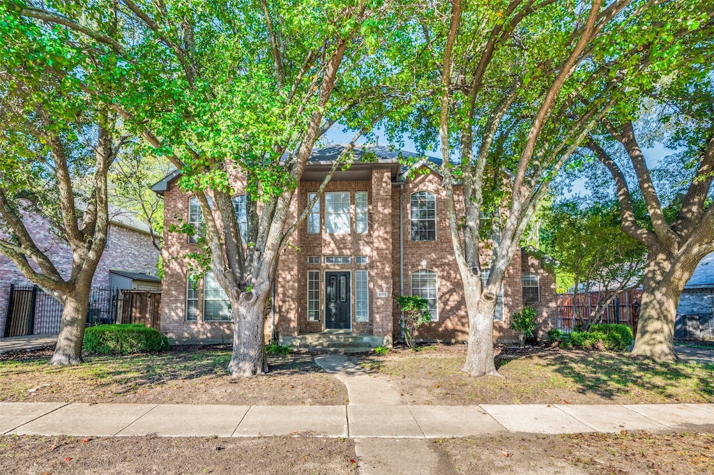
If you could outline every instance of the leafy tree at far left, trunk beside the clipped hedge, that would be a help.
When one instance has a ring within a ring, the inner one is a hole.
[[[0,22],[7,19],[3,10]],[[0,53],[0,252],[64,305],[50,364],[77,364],[91,281],[109,229],[107,171],[124,137],[116,114],[46,74],[46,66],[66,60],[64,49],[35,44],[39,27],[5,26],[21,34],[4,42]],[[31,226],[45,220],[71,249],[69,269],[36,240]]]

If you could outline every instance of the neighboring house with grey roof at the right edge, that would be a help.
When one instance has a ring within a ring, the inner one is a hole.
[[[677,307],[675,337],[714,339],[714,252],[704,256]]]

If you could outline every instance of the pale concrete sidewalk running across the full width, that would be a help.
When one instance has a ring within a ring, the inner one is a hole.
[[[0,403],[0,434],[431,439],[508,433],[713,431],[714,404],[194,406]]]

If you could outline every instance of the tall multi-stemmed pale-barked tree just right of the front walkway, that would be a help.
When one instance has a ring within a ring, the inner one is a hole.
[[[665,64],[684,67],[683,39],[709,21],[702,11],[710,9],[698,1],[451,2],[437,61],[440,100],[423,106],[423,121],[438,128],[466,288],[464,371],[498,375],[496,296],[553,176],[630,84],[661,76]],[[480,256],[483,234],[493,241],[491,256]],[[482,289],[481,269],[489,264]]]

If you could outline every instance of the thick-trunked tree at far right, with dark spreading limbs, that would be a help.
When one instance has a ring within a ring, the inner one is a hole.
[[[639,114],[603,119],[598,134],[588,141],[588,148],[615,181],[623,231],[647,249],[633,354],[655,360],[675,358],[674,321],[680,294],[699,261],[714,251],[711,34],[695,53],[700,54],[699,64],[645,91],[645,99],[663,104],[658,123],[661,129],[670,129],[668,145],[681,150],[676,154],[679,166],[667,169],[670,179],[660,185],[659,191],[633,124]],[[624,157],[618,159],[621,152]],[[625,178],[628,169],[634,171],[636,185]],[[635,214],[631,186],[643,197],[645,220],[638,220]],[[673,189],[675,194],[671,193]]]

